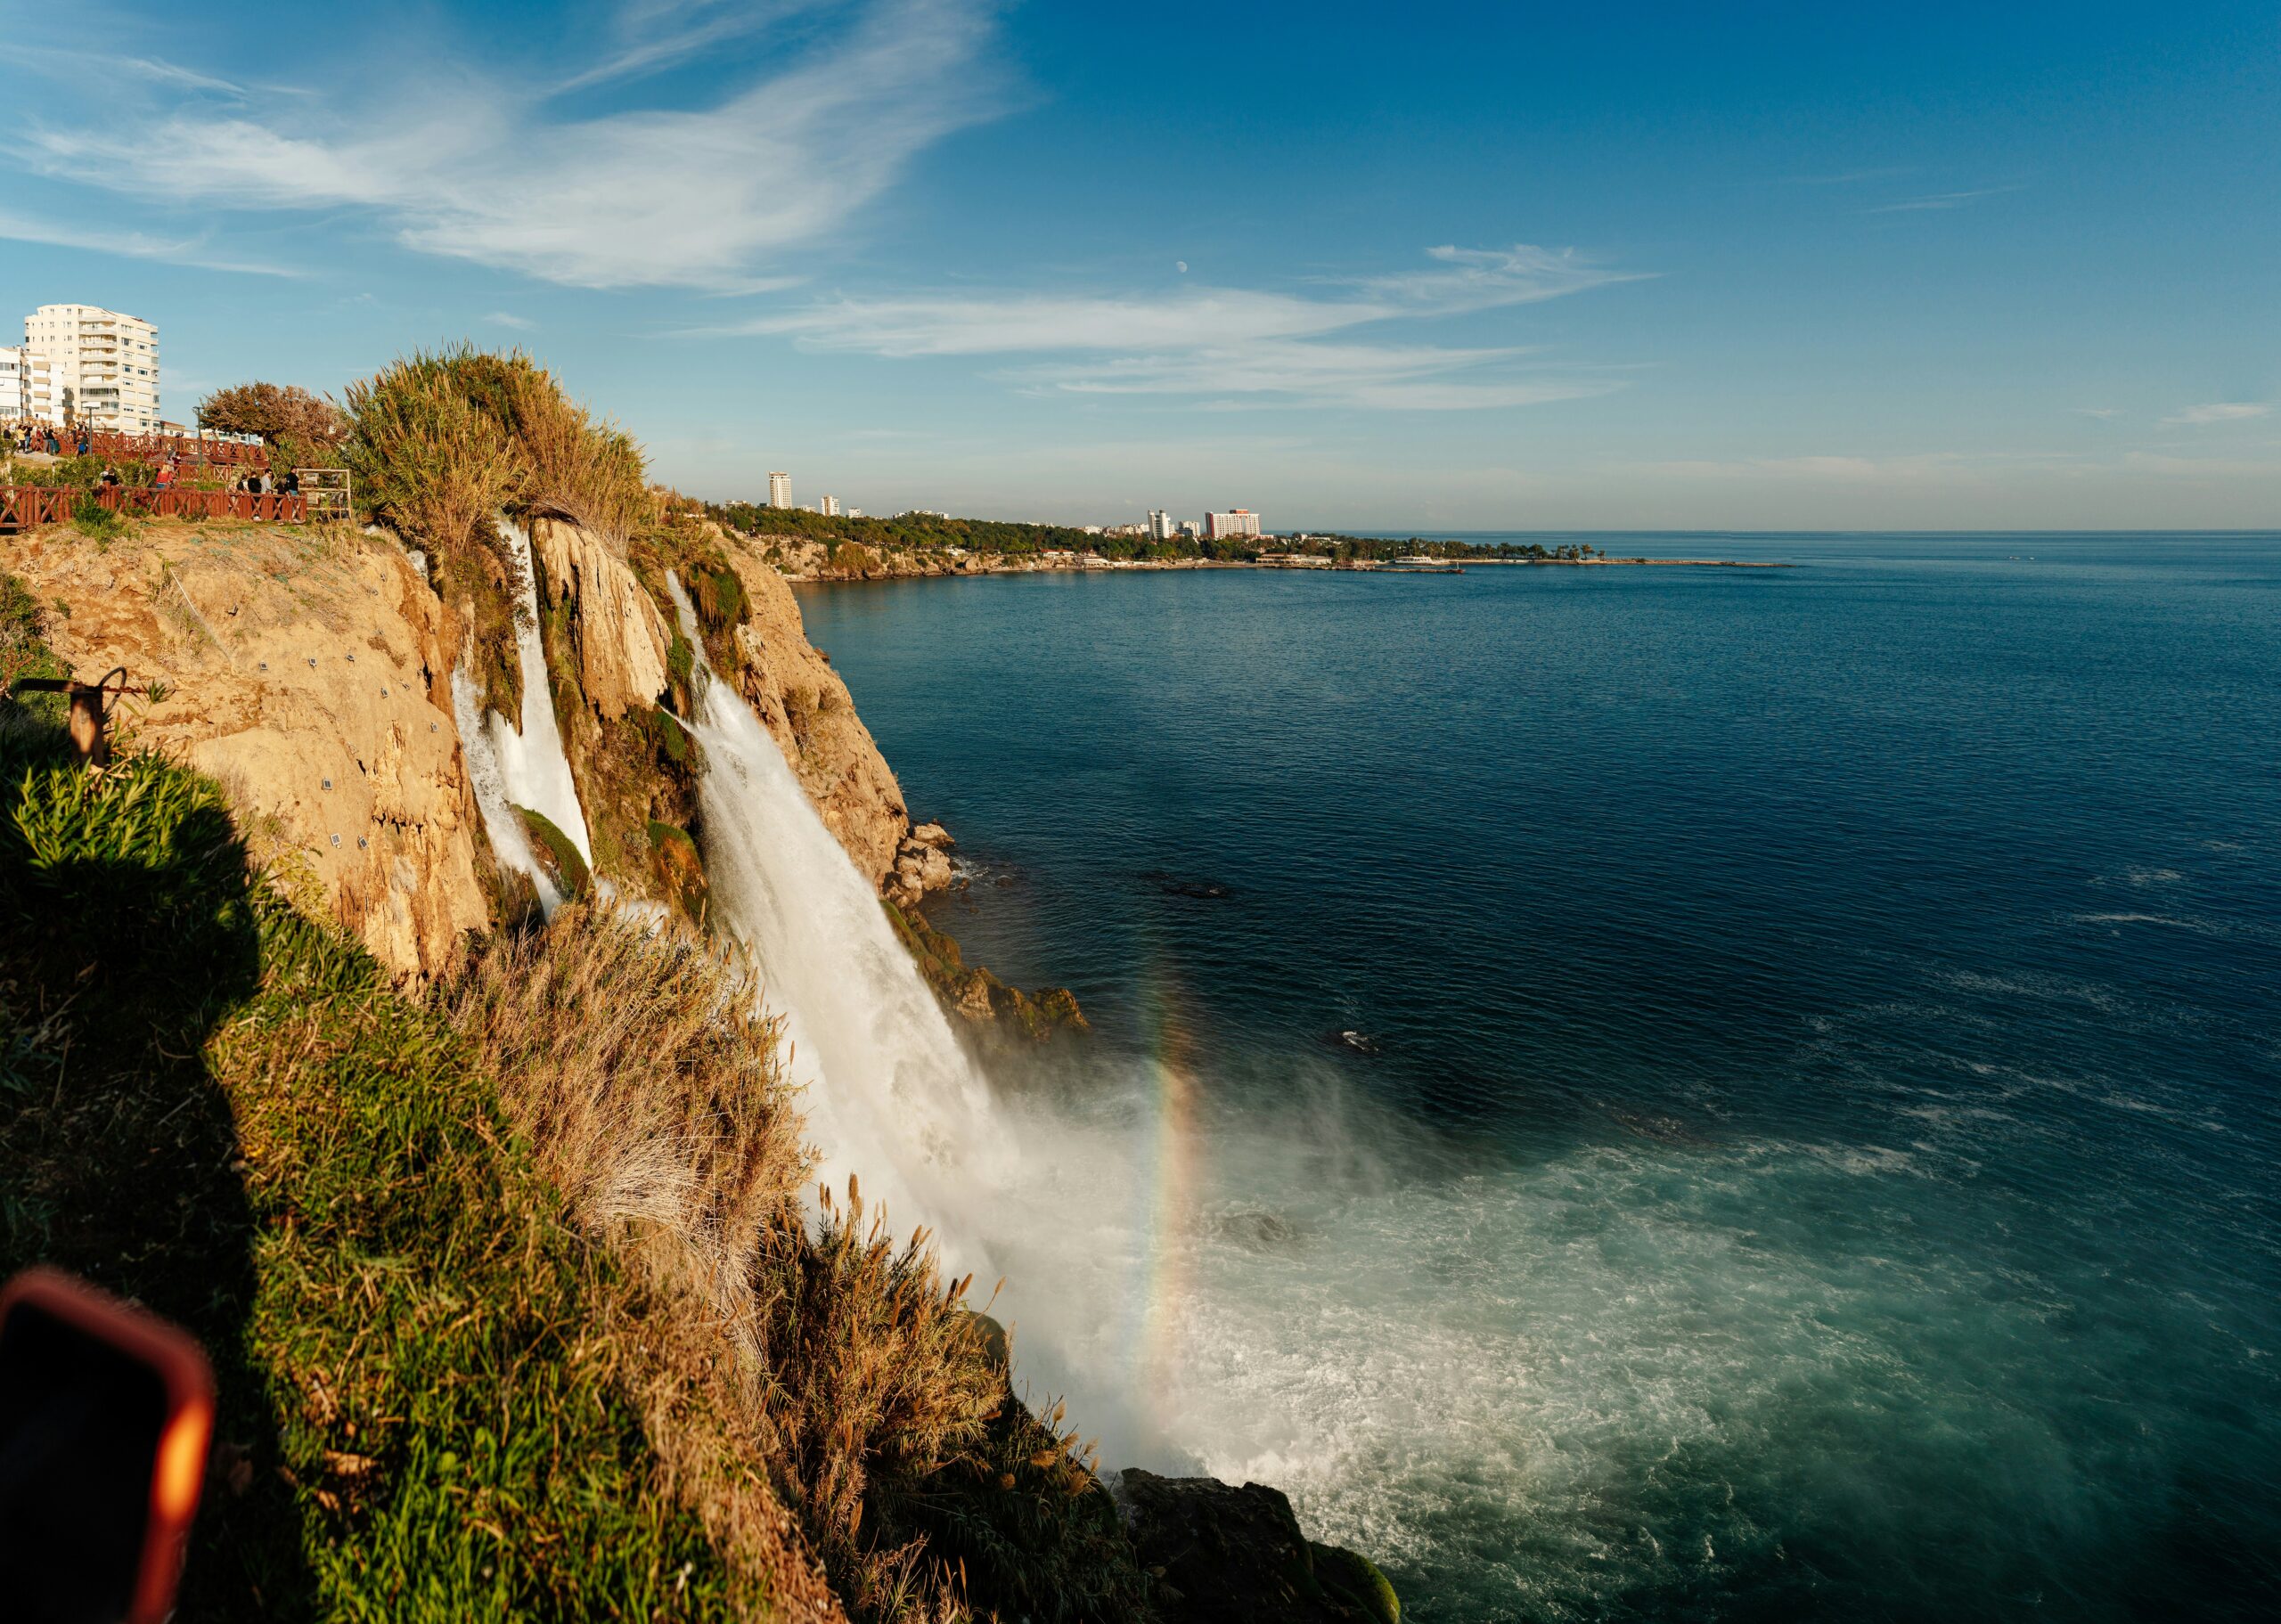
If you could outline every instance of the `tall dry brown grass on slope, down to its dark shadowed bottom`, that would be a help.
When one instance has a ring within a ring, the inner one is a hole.
[[[1058,1412],[1006,1389],[972,1282],[942,1280],[928,1236],[890,1234],[853,1179],[803,1216],[812,1156],[780,1031],[750,1006],[750,979],[698,937],[586,908],[488,942],[447,994],[579,1223],[652,1293],[696,1302],[652,1357],[707,1419],[666,1414],[652,1437],[705,1483],[714,1537],[782,1540],[773,1501],[719,1471],[744,1457],[858,1619],[1145,1617],[1104,1492]]]

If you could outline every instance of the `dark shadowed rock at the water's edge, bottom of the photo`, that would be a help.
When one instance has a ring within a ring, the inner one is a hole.
[[[1175,1624],[1401,1624],[1385,1574],[1353,1551],[1312,1544],[1282,1489],[1129,1467],[1118,1499]]]

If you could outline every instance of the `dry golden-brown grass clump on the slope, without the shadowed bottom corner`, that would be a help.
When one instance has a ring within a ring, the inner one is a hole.
[[[714,1537],[782,1585],[780,1499],[855,1617],[967,1617],[926,1542],[867,1508],[972,1451],[1004,1373],[924,1232],[890,1241],[853,1182],[803,1216],[814,1161],[750,979],[691,933],[570,906],[443,997],[577,1220],[682,1305],[650,1318],[639,1387]]]

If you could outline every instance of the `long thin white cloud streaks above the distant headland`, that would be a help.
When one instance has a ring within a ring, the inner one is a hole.
[[[1590,367],[1556,370],[1519,347],[1362,342],[1355,328],[1474,315],[1635,281],[1574,253],[1428,249],[1419,271],[1316,283],[1318,294],[1191,287],[1152,294],[912,294],[821,299],[719,333],[785,335],[874,356],[1058,356],[999,372],[1056,395],[1184,395],[1382,411],[1464,411],[1578,399],[1622,388]]]

